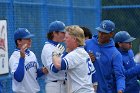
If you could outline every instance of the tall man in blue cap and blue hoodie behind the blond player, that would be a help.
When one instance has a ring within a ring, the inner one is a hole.
[[[116,49],[113,37],[115,24],[110,20],[103,20],[98,30],[98,36],[86,41],[85,49],[95,56],[98,87],[97,93],[123,93],[125,76],[122,56]]]

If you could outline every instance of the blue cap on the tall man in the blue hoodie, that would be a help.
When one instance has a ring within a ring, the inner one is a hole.
[[[100,32],[110,33],[114,31],[115,24],[110,20],[103,20],[99,27],[96,28]]]

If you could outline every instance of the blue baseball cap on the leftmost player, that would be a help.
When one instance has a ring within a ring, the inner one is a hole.
[[[26,28],[18,28],[14,33],[15,40],[32,38],[33,36]]]

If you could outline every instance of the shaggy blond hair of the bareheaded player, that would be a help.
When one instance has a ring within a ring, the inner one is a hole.
[[[69,35],[74,36],[76,38],[79,46],[85,45],[85,36],[82,28],[80,28],[77,25],[67,26],[66,32],[68,32]]]

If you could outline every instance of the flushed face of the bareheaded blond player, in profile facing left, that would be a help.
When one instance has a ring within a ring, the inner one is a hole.
[[[73,36],[69,35],[68,32],[66,32],[64,40],[67,48],[70,51],[73,50],[74,49],[73,45],[75,44],[76,39]]]

